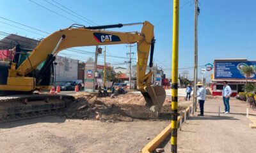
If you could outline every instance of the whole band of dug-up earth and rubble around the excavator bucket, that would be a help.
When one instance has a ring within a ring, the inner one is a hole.
[[[75,101],[68,105],[67,110],[58,115],[67,119],[101,120],[102,122],[131,122],[133,120],[170,120],[171,101],[166,98],[163,111],[159,117],[150,115],[145,106],[146,101],[140,94],[121,94],[115,98],[97,97],[95,94],[79,92],[74,95]],[[182,98],[179,99],[182,101]],[[183,101],[179,110],[184,110],[190,105]]]

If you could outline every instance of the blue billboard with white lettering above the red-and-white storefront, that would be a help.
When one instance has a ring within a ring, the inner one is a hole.
[[[215,61],[214,78],[244,80],[246,77],[241,73],[241,68],[243,68],[243,66],[256,67],[256,61]],[[256,72],[248,77],[248,79],[256,80]]]

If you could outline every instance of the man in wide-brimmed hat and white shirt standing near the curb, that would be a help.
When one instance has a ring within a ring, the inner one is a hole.
[[[198,103],[200,106],[200,114],[198,114],[198,116],[204,116],[204,101],[205,101],[206,90],[202,82],[198,82],[196,86],[198,87],[196,98],[198,99]]]

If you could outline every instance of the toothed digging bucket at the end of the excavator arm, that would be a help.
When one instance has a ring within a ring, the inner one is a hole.
[[[150,108],[150,112],[158,117],[166,98],[166,92],[159,85],[146,87],[146,91],[141,92],[147,102],[146,105]]]

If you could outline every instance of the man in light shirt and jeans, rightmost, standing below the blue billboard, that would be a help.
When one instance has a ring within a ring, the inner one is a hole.
[[[230,105],[229,105],[229,99],[232,94],[232,89],[228,85],[227,81],[223,82],[223,91],[222,91],[222,97],[223,97],[223,103],[225,106],[225,110],[223,113],[230,113]]]

